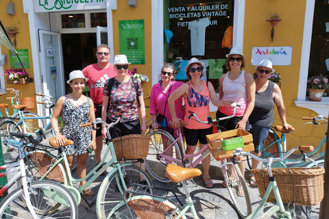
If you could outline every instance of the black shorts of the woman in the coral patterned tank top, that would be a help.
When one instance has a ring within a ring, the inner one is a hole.
[[[187,129],[184,127],[185,140],[186,144],[190,146],[197,145],[197,141],[199,144],[207,144],[207,135],[212,134],[212,127],[208,129]]]

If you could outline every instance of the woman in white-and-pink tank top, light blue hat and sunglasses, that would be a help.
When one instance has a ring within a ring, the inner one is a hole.
[[[233,47],[230,54],[226,55],[226,68],[228,73],[221,75],[219,79],[219,99],[234,99],[240,105],[235,116],[228,120],[219,121],[221,131],[232,129],[245,129],[249,126],[248,118],[254,109],[255,104],[255,81],[254,77],[245,72],[245,55],[238,47]],[[216,117],[232,115],[233,108],[230,105],[218,107]],[[239,159],[243,160],[240,156]],[[239,164],[242,175],[245,174],[245,162]],[[226,183],[223,183],[226,187]],[[243,192],[243,191],[241,191]],[[240,194],[244,195],[244,194]]]

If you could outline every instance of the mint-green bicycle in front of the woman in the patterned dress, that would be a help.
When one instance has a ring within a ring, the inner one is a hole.
[[[120,114],[117,113],[117,115],[119,116]],[[69,162],[67,161],[66,153],[60,152],[61,156],[57,160],[53,160],[51,159],[51,157],[47,157],[47,153],[44,154],[42,152],[49,150],[49,146],[45,145],[35,146],[37,149],[36,153],[38,154],[36,154],[36,157],[34,158],[34,163],[36,163],[36,166],[39,166],[39,168],[37,168],[32,173],[32,175],[34,175],[34,177],[38,177],[39,180],[45,179],[47,177],[52,178],[51,172],[53,170],[54,172],[56,172],[55,168],[58,168],[58,171],[60,171],[61,173],[61,178],[64,183],[64,186],[68,188],[70,192],[73,193],[73,196],[75,196],[77,203],[80,204],[81,198],[83,198],[84,201],[87,203],[88,207],[96,205],[97,218],[108,218],[112,215],[112,209],[123,200],[124,192],[125,190],[127,190],[129,185],[131,185],[132,183],[145,183],[146,185],[153,185],[151,179],[149,179],[145,171],[143,171],[141,168],[134,166],[134,161],[125,163],[118,161],[117,156],[115,155],[116,153],[114,151],[112,139],[110,138],[110,128],[114,127],[114,125],[117,125],[117,123],[119,123],[119,120],[120,117],[115,123],[111,123],[110,125],[108,125],[107,123],[103,122],[101,118],[97,118],[93,123],[81,125],[81,127],[91,125],[93,128],[95,128],[94,125],[102,123],[103,125],[106,125],[109,137],[108,148],[106,149],[103,159],[99,164],[97,164],[97,166],[95,166],[95,168],[93,168],[93,170],[88,172],[86,177],[84,177],[83,179],[73,179],[69,168]],[[51,140],[49,140],[49,144],[52,146],[52,150],[58,150],[58,144],[56,144],[55,138],[51,138]],[[66,140],[66,143],[64,145],[69,144],[73,144],[73,142],[71,140]],[[109,151],[112,154],[112,159],[110,159],[106,164],[104,164]],[[30,152],[30,154],[31,153],[32,152]],[[46,160],[49,166],[42,167],[42,165],[37,165],[39,160],[40,162],[45,162]],[[138,159],[138,162],[143,162],[143,159]],[[90,185],[90,183],[93,183],[93,181],[95,181],[101,175],[101,173],[105,172],[110,166],[112,166],[113,169],[103,179],[99,188],[99,192],[97,194],[96,202],[93,201],[93,203],[89,203],[86,198],[84,198],[84,196],[81,196],[80,194],[88,187],[88,185]],[[101,169],[97,172],[97,168],[99,167],[101,167]],[[42,168],[46,168],[46,170]],[[145,181],[141,179],[145,179]],[[79,183],[83,180],[86,180],[86,184],[84,184],[79,189],[75,188],[74,183]]]

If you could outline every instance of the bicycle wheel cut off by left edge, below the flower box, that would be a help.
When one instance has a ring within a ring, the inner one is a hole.
[[[16,162],[19,157],[19,151],[17,151],[16,147],[3,143],[3,140],[6,140],[10,133],[18,131],[17,127],[14,129],[15,125],[16,123],[12,120],[5,120],[0,125],[2,153],[5,164]]]

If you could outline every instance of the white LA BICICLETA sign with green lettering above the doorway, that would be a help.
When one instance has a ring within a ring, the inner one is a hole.
[[[106,0],[34,0],[34,12],[106,9]]]

